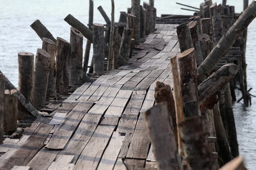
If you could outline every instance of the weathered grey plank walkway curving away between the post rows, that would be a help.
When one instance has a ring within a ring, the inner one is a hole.
[[[0,169],[154,169],[143,112],[154,105],[157,81],[172,87],[169,57],[180,53],[175,25],[158,24],[137,48],[131,65],[85,83],[62,104],[48,105],[49,115],[20,139],[7,138]]]

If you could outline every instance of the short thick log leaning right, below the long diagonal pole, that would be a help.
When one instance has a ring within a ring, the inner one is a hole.
[[[209,97],[224,87],[235,77],[239,66],[233,63],[222,66],[218,71],[208,77],[198,86],[199,105],[203,104]]]

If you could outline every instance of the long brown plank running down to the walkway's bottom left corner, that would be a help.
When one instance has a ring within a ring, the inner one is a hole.
[[[28,164],[38,150],[44,146],[44,141],[52,130],[52,127],[53,125],[40,124],[26,142],[16,150],[15,154],[6,161],[3,169],[7,170],[15,165],[25,166]]]

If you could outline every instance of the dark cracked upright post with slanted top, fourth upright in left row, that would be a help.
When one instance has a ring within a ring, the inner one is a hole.
[[[70,79],[70,48],[66,40],[57,37],[55,64],[55,92],[68,94]]]

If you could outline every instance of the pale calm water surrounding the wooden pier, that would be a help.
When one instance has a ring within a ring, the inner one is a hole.
[[[180,10],[175,2],[178,0],[155,0],[157,16],[160,14],[193,14],[190,11]],[[199,7],[204,0],[183,0],[190,6]],[[214,1],[214,0],[213,0]],[[143,2],[143,0],[141,0]],[[217,0],[221,3],[222,0]],[[236,12],[243,8],[242,0],[228,0],[228,5],[236,6]],[[69,41],[70,26],[63,20],[72,14],[85,25],[88,23],[89,0],[0,0],[0,70],[17,87],[18,62],[17,53],[21,51],[36,54],[41,48],[42,41],[29,27],[39,19],[49,29],[54,37],[62,37]],[[105,21],[98,6],[102,6],[108,16],[111,14],[111,0],[94,0],[94,22]],[[115,0],[115,20],[119,20],[119,11],[127,11],[131,0]],[[256,21],[248,28],[247,40],[247,82],[248,88],[254,88],[256,83],[256,59],[253,51],[256,45]],[[84,39],[84,48],[86,40]],[[92,52],[92,50],[91,50]],[[90,55],[92,56],[92,55]],[[251,91],[256,95],[256,89]],[[241,93],[239,93],[241,96]],[[239,96],[237,98],[239,98]],[[244,156],[248,170],[256,169],[256,99],[252,99],[252,106],[244,108],[242,104],[234,105],[236,130],[239,140],[239,150]]]

